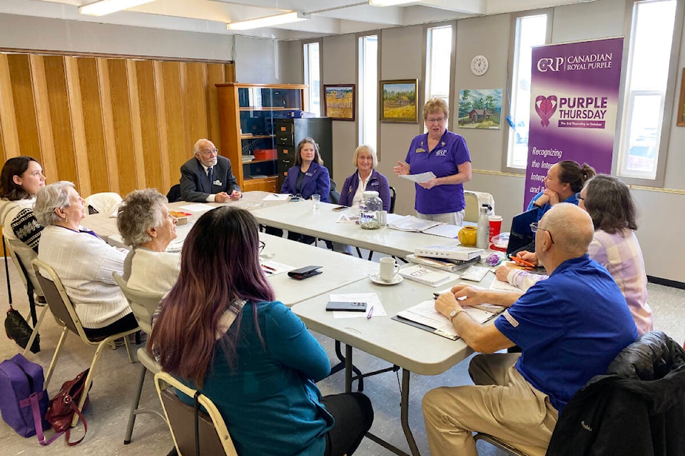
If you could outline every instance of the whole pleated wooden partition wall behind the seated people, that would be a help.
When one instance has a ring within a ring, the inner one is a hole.
[[[218,144],[232,63],[0,53],[0,158],[31,155],[83,197],[168,192],[198,138]],[[21,150],[20,150],[21,148]]]

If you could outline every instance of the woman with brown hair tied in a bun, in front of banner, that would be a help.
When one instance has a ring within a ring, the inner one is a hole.
[[[554,204],[560,202],[578,204],[577,193],[595,174],[597,173],[594,168],[587,163],[583,163],[582,166],[573,160],[555,163],[549,168],[547,177],[544,178],[544,190],[533,197],[527,210],[537,209],[539,221]]]

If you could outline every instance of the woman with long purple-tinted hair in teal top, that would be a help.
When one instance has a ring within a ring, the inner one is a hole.
[[[203,214],[149,347],[164,371],[215,403],[240,456],[352,455],[371,427],[371,403],[361,393],[321,396],[314,382],[330,372],[328,356],[275,301],[259,251],[250,212]]]

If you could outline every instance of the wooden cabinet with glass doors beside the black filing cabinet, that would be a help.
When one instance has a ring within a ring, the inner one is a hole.
[[[276,192],[278,155],[274,122],[303,109],[305,88],[294,84],[216,84],[220,155],[233,167],[240,190]]]

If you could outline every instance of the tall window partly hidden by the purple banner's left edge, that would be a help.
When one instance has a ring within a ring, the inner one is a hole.
[[[507,167],[525,168],[528,160],[528,120],[532,47],[547,42],[547,14],[521,16],[514,28],[514,67],[509,90]]]

